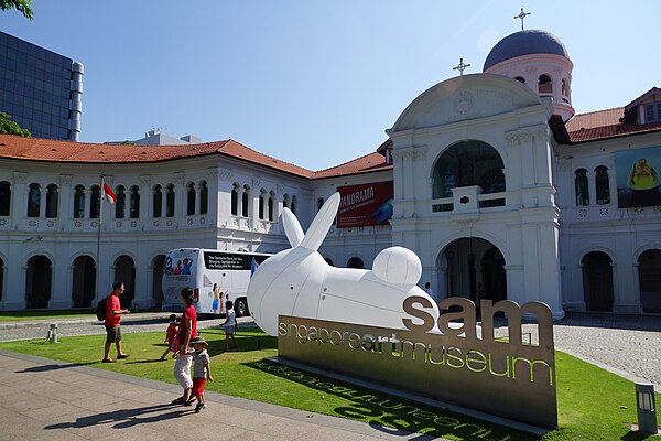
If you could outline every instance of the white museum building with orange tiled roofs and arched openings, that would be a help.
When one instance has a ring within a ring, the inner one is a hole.
[[[322,171],[234,140],[0,136],[0,310],[89,308],[97,269],[100,295],[121,280],[127,305],[158,306],[169,249],[279,251],[283,207],[305,227],[339,191],[332,265],[369,268],[400,245],[438,299],[660,313],[661,89],[574,115],[572,68],[556,36],[516,32],[481,74],[413,99],[376,151]]]

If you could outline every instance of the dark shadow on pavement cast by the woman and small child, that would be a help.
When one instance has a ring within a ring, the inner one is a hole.
[[[56,430],[56,429],[72,429],[72,428],[86,428],[105,423],[115,423],[112,428],[115,429],[126,429],[138,424],[147,424],[150,422],[164,421],[173,418],[180,418],[186,413],[192,412],[191,410],[173,410],[167,413],[156,413],[161,410],[165,410],[169,408],[173,408],[174,405],[158,405],[158,406],[148,406],[148,407],[139,407],[134,409],[120,409],[113,410],[110,412],[90,415],[87,417],[80,417],[73,422],[59,422],[57,424],[46,426],[44,429],[46,430]],[[189,408],[188,408],[189,409]]]

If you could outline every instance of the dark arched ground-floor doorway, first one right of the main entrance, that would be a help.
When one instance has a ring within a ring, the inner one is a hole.
[[[587,311],[613,311],[613,261],[606,252],[583,256],[583,295]]]

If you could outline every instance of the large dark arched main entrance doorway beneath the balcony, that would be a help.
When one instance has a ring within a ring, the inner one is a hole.
[[[488,240],[468,237],[447,245],[437,259],[440,293],[463,297],[479,306],[480,300],[494,303],[507,299],[507,273],[502,252]]]

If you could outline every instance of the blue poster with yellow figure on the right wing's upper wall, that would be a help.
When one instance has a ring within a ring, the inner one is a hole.
[[[616,152],[615,171],[618,207],[661,205],[661,147]]]

